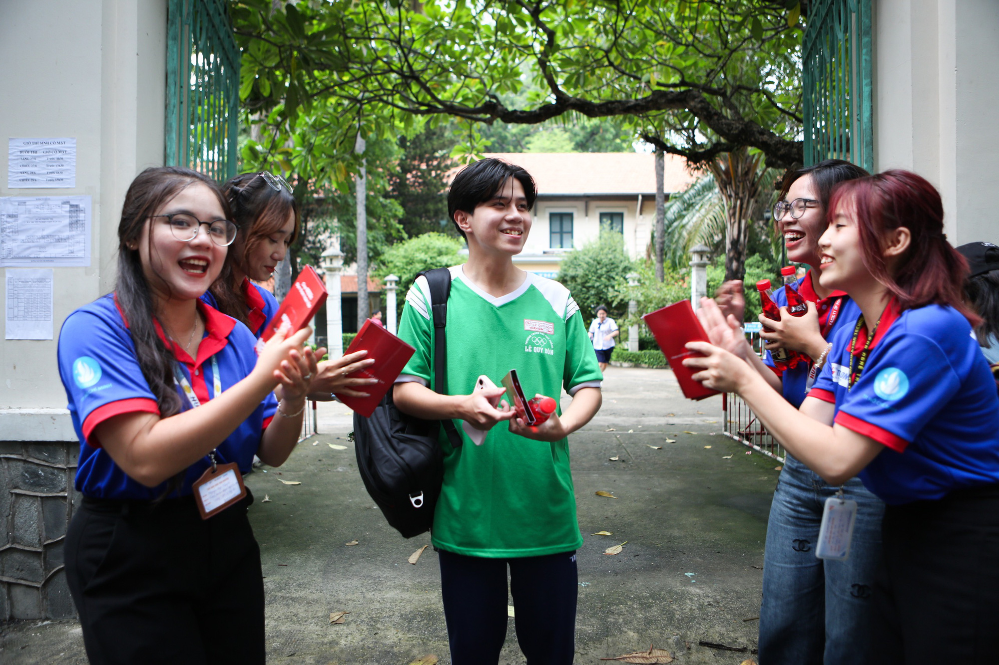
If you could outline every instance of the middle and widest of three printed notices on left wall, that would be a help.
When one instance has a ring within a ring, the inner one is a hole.
[[[90,266],[90,196],[0,197],[0,266]]]

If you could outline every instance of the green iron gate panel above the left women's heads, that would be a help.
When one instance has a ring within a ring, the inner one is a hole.
[[[223,0],[170,0],[165,160],[236,175],[240,52]]]

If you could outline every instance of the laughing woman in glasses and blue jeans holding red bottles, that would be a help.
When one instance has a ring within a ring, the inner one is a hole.
[[[809,375],[821,368],[829,340],[856,321],[856,304],[841,291],[823,287],[816,271],[818,240],[826,229],[826,207],[837,183],[867,172],[842,160],[826,160],[788,173],[773,208],[773,220],[784,238],[788,261],[812,268],[795,287],[808,305],[802,317],[787,314],[785,288],[774,293],[784,308],[779,322],[761,319],[767,348],[778,346],[804,353],[810,361],[778,369],[767,350],[761,361],[741,338],[731,350],[749,359],[793,406],[807,393]],[[726,283],[718,302],[731,325],[742,321],[741,283]],[[816,558],[823,502],[839,492],[858,504],[850,556],[845,561]],[[870,637],[870,589],[881,553],[883,502],[859,478],[840,485],[826,483],[791,453],[770,504],[763,564],[763,598],[759,611],[760,661],[768,665],[867,662]]]

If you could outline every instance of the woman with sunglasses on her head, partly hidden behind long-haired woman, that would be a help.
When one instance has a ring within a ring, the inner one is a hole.
[[[292,186],[280,175],[268,171],[236,176],[223,185],[222,194],[229,202],[239,232],[226,268],[207,300],[217,304],[220,312],[247,324],[259,337],[279,306],[271,292],[252,281],[271,279],[278,264],[284,261],[299,234],[299,204]],[[322,357],[326,349],[317,351]],[[365,358],[366,354],[367,351],[358,351],[320,362],[309,398],[329,401],[333,392],[368,396],[360,388],[377,383],[378,379],[347,376],[375,362]]]

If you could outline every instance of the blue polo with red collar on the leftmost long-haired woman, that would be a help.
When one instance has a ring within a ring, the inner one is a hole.
[[[198,309],[205,319],[206,335],[192,358],[179,344],[164,338],[181,370],[202,403],[214,397],[215,382],[211,358],[219,366],[222,389],[244,379],[257,363],[256,338],[246,326],[202,302]],[[142,374],[135,354],[135,344],[128,325],[112,296],[84,306],[66,319],[59,333],[59,374],[80,439],[80,459],[76,470],[76,488],[86,496],[116,499],[154,499],[163,493],[166,482],[146,487],[133,480],[115,463],[94,434],[94,428],[121,413],[159,413],[156,396]],[[184,408],[190,403],[178,388]],[[219,463],[236,462],[244,473],[260,447],[264,428],[271,422],[278,402],[273,393],[261,402],[218,447]],[[177,494],[191,494],[192,483],[211,464],[208,456],[188,467]]]

